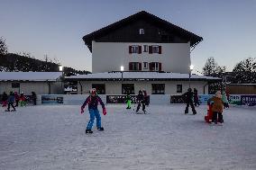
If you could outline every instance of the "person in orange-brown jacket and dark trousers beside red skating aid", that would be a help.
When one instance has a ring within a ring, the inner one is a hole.
[[[222,100],[221,92],[217,91],[215,93],[215,96],[210,98],[207,101],[207,103],[212,105],[213,122],[215,122],[215,124],[217,124],[218,121],[220,123],[223,123],[224,122],[224,119],[223,119],[224,102]]]

